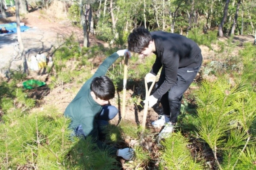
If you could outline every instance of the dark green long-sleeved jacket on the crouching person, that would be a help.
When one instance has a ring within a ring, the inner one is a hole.
[[[71,129],[75,129],[81,124],[85,136],[91,135],[93,139],[96,139],[98,147],[102,149],[109,148],[108,145],[98,140],[98,125],[96,121],[98,120],[98,114],[102,111],[102,106],[93,100],[90,93],[90,85],[95,77],[104,76],[108,68],[118,57],[119,55],[117,53],[113,53],[103,61],[95,74],[83,84],[78,94],[76,94],[64,112],[66,117],[71,118],[69,126]],[[117,152],[116,148],[110,147],[110,149],[114,154]]]

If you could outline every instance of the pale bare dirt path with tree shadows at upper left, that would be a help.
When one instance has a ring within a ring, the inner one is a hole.
[[[0,18],[0,24],[16,22],[15,16],[7,17],[6,20]],[[40,13],[40,10],[28,13],[24,19],[21,20],[26,26],[30,27],[21,33],[22,42],[24,44],[24,52],[26,57],[31,57],[36,54],[45,54],[48,58],[52,55],[54,48],[60,46],[64,39],[68,38],[72,33],[76,37],[83,35],[82,31],[75,29],[68,20],[54,20],[52,18],[45,18]],[[0,35],[0,71],[6,72],[8,69],[16,70],[21,65],[19,57],[13,61],[15,40],[13,38],[17,33],[1,34]],[[82,39],[78,39],[82,41]]]

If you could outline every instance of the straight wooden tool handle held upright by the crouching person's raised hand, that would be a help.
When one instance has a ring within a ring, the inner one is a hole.
[[[124,55],[124,80],[122,89],[122,112],[121,112],[121,122],[125,117],[125,104],[126,104],[126,83],[127,83],[127,65],[128,65],[129,55]]]

